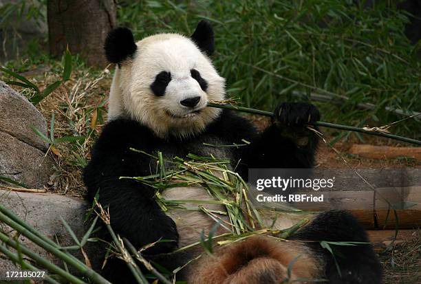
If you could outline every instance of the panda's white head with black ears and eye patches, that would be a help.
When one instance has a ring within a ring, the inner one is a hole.
[[[225,80],[208,56],[213,30],[201,21],[193,35],[155,34],[135,43],[127,28],[109,33],[105,54],[116,63],[109,120],[130,118],[161,138],[187,137],[204,130],[220,109],[206,107],[224,99]]]

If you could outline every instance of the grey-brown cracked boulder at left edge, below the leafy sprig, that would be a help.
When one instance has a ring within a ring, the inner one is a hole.
[[[43,115],[0,81],[0,176],[32,188],[43,188],[53,173],[54,161],[45,155],[47,143],[30,126],[47,135]]]

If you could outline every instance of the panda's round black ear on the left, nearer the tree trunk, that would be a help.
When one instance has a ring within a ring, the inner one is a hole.
[[[138,46],[134,42],[133,34],[128,28],[116,28],[111,30],[105,40],[105,56],[111,63],[122,63],[132,56]]]

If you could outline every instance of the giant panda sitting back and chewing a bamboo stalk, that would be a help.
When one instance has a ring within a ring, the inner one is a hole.
[[[225,98],[224,78],[210,61],[214,52],[210,23],[200,21],[192,36],[155,34],[135,42],[127,28],[109,33],[105,53],[116,64],[109,96],[108,121],[94,144],[84,170],[87,198],[97,195],[107,206],[111,226],[136,248],[160,239],[143,252],[153,263],[170,271],[194,259],[192,252],[172,253],[178,246],[199,240],[199,230],[215,224],[202,212],[163,212],[155,190],[132,179],[155,173],[156,161],[148,153],[162,151],[167,159],[188,153],[228,157],[232,168],[247,179],[248,168],[312,168],[318,138],[305,128],[320,118],[308,103],[285,102],[274,110],[272,124],[258,132],[233,111],[207,107]],[[216,148],[208,144],[247,146]],[[170,199],[211,199],[199,187],[171,188]],[[219,208],[224,210],[224,208]],[[288,241],[256,236],[202,254],[191,261],[176,280],[187,283],[380,283],[381,268],[369,244],[335,246],[336,257],[319,241],[368,242],[365,230],[346,211],[328,211],[311,217]],[[267,218],[268,223],[272,219]],[[288,228],[294,218],[278,217],[274,228]],[[109,259],[102,270],[113,283],[136,283],[125,263]],[[284,281],[284,282],[283,282]]]

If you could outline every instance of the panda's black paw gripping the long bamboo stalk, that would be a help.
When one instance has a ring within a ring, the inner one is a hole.
[[[283,102],[274,111],[274,124],[279,127],[304,127],[320,120],[319,109],[306,102]]]

